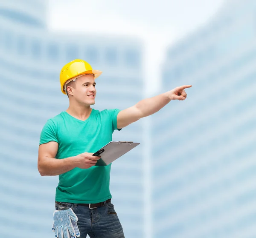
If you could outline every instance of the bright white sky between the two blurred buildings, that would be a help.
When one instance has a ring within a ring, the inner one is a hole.
[[[223,3],[224,0],[49,0],[49,28],[140,37],[147,49],[145,69],[154,68],[146,70],[148,81],[159,76],[166,46],[207,23]],[[151,88],[149,84],[147,92],[154,90],[155,85]]]

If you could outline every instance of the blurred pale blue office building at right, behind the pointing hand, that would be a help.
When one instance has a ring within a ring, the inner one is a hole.
[[[154,238],[249,238],[256,225],[256,2],[226,1],[170,46],[152,119]]]

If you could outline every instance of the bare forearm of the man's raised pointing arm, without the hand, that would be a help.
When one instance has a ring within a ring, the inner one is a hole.
[[[138,110],[140,110],[141,116],[144,118],[158,112],[170,101],[171,99],[169,98],[168,93],[165,92],[155,97],[143,99],[140,102],[138,102],[135,106],[137,107]]]

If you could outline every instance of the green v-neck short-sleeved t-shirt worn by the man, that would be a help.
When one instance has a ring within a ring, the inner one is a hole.
[[[58,142],[56,159],[76,156],[84,152],[94,153],[112,141],[117,129],[119,109],[92,109],[87,120],[82,121],[61,112],[47,120],[40,143]],[[120,130],[120,129],[118,129]],[[98,203],[111,198],[109,188],[110,169],[108,166],[92,166],[89,169],[74,168],[59,175],[56,201],[70,203]]]

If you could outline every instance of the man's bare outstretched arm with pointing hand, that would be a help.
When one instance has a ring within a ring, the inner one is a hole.
[[[143,99],[134,106],[122,110],[117,115],[117,128],[121,129],[139,120],[140,118],[144,118],[158,112],[171,100],[185,100],[187,94],[184,89],[190,87],[192,86],[184,85],[177,87],[169,92],[165,92],[155,97]]]

